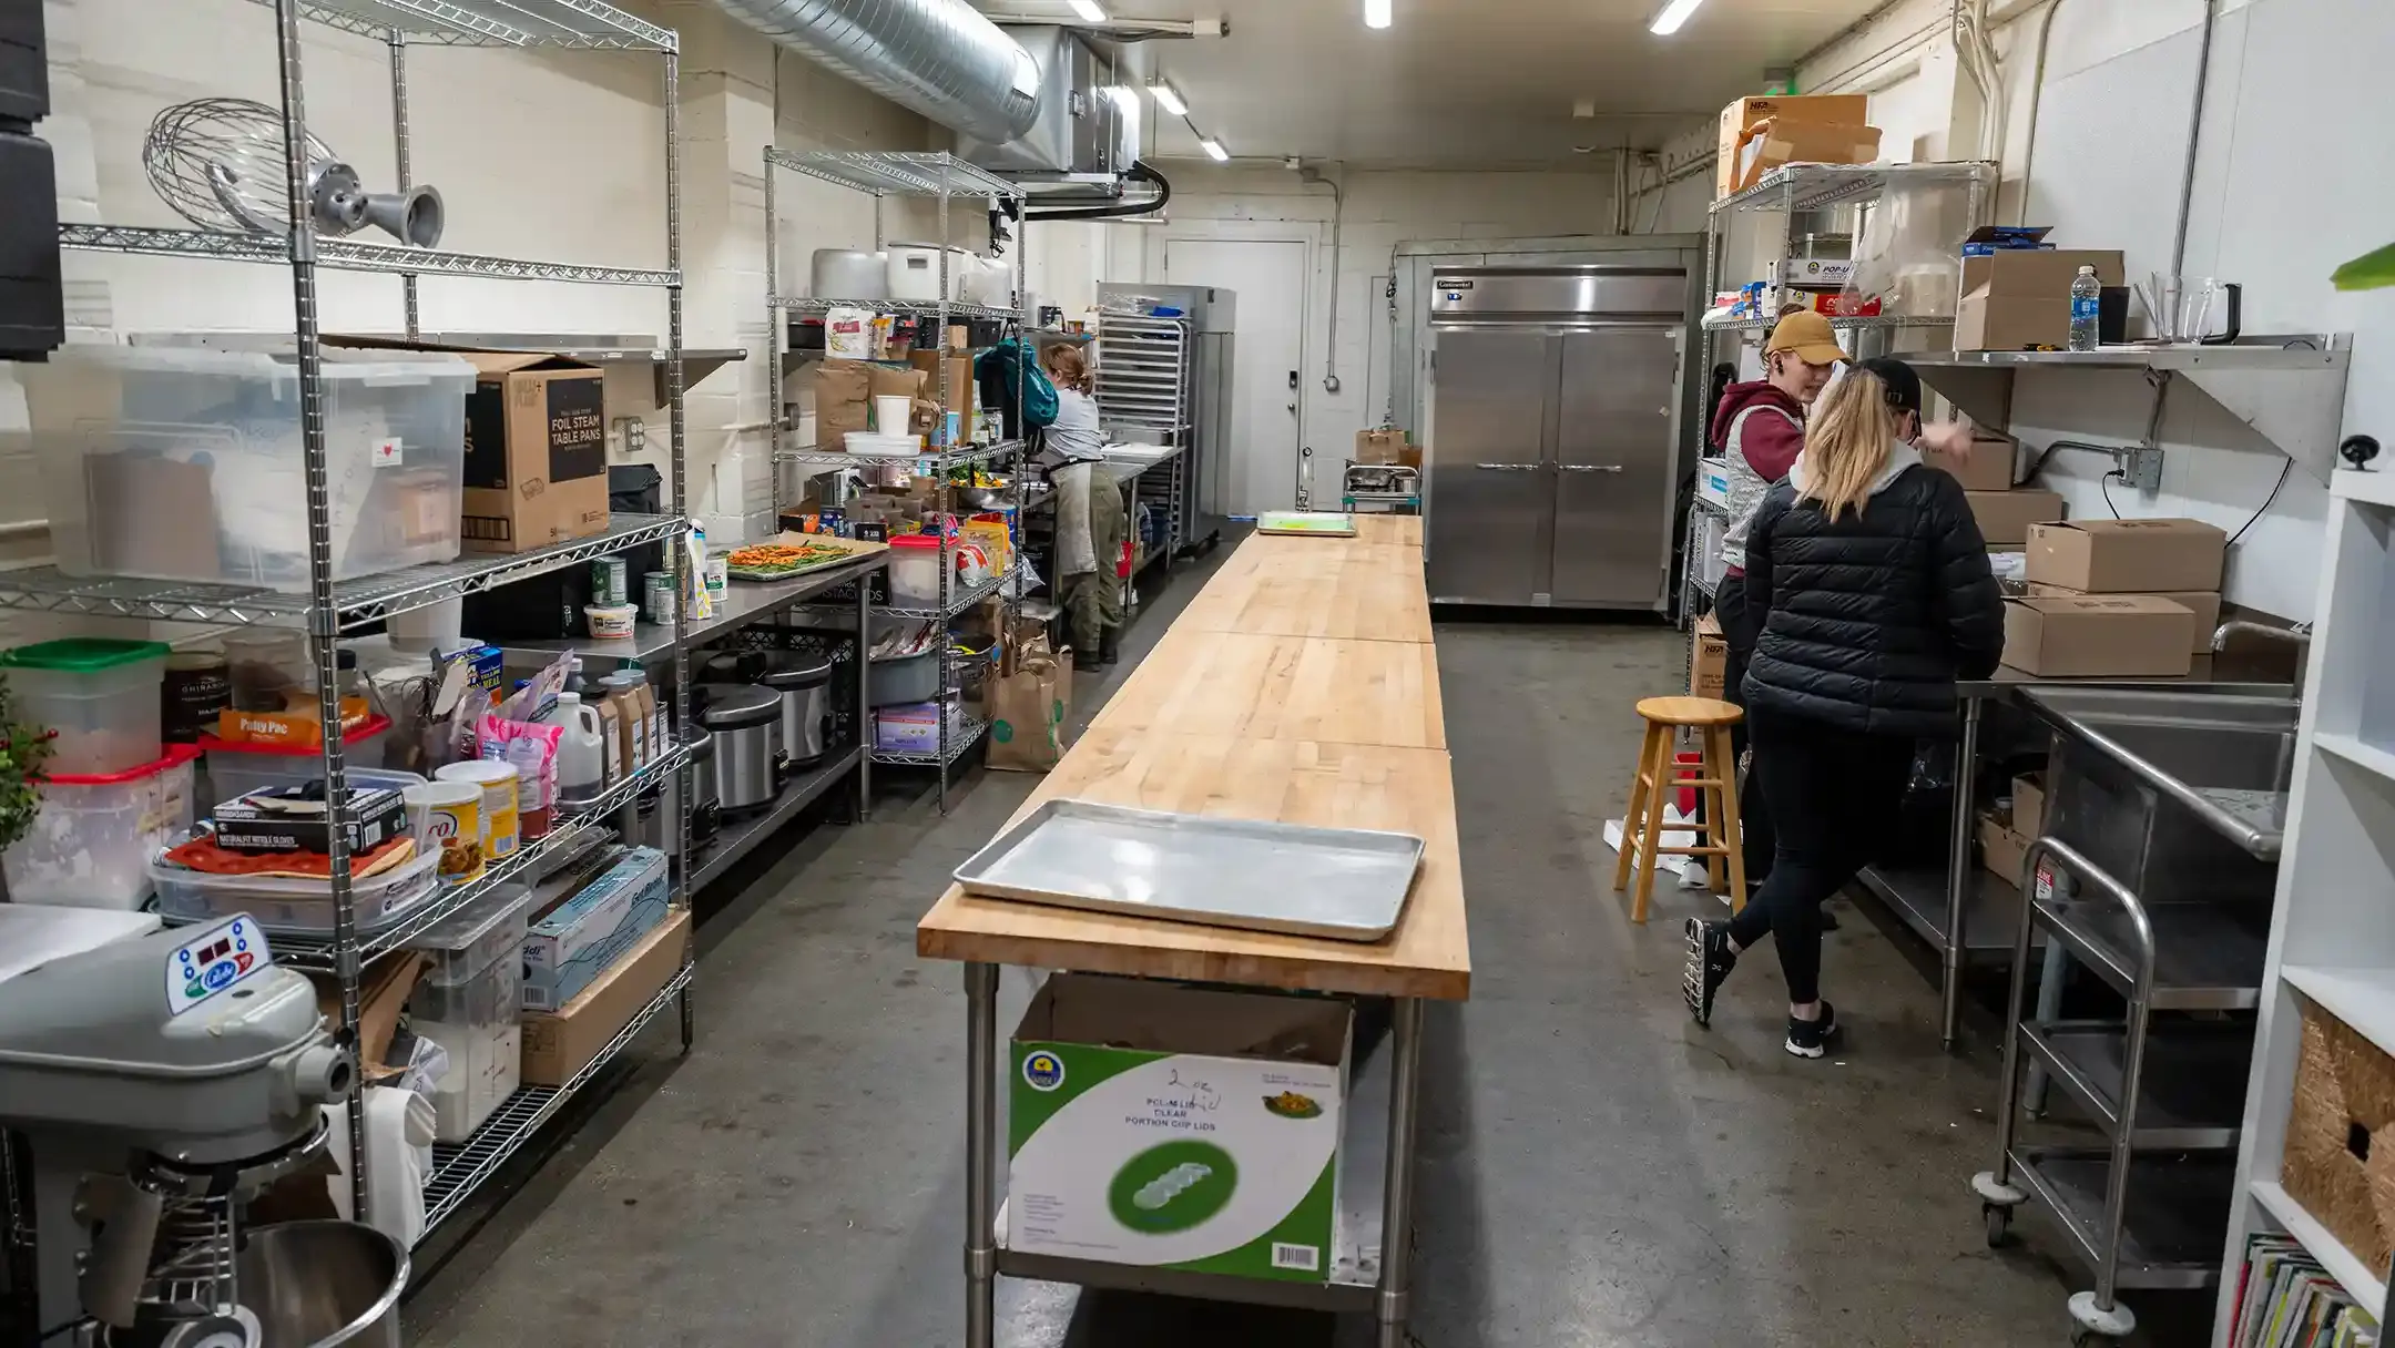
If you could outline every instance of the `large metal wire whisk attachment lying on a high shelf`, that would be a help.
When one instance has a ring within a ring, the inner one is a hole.
[[[249,98],[194,98],[151,120],[141,136],[151,189],[208,230],[280,235],[290,227],[283,113]],[[326,235],[374,225],[402,244],[441,242],[441,192],[366,192],[357,170],[314,134],[307,139],[307,206]]]

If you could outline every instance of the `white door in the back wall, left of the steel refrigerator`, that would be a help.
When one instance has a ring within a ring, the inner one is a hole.
[[[1164,239],[1164,280],[1236,295],[1231,433],[1207,467],[1209,510],[1257,515],[1298,505],[1298,371],[1305,362],[1305,244],[1298,239]]]

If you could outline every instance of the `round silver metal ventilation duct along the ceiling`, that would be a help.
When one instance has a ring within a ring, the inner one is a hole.
[[[977,141],[1039,117],[1039,65],[965,0],[716,0],[742,24]]]

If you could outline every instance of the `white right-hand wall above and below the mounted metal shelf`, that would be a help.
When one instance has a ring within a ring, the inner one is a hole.
[[[2170,268],[2203,2],[2060,0],[2038,91],[2045,10],[1997,7],[2005,72],[1997,218],[2055,225],[2064,247],[2120,247],[2132,278]],[[1945,0],[1904,0],[1868,31],[1818,53],[1799,69],[1799,84],[1873,89],[1873,122],[1890,148],[1928,148],[1945,134],[1942,153],[1966,156],[1981,108],[1952,62],[1945,17]],[[2179,268],[2242,280],[2249,333],[2352,333],[2345,424],[2376,433],[2395,426],[2395,299],[2338,295],[2328,273],[2388,242],[2395,220],[2395,187],[2361,168],[2383,160],[2373,57],[2385,50],[2395,50],[2395,10],[2381,0],[2223,0]],[[1911,67],[1918,69],[1906,74]],[[1894,84],[1875,84],[1892,72]],[[2014,429],[2031,445],[2055,436],[2136,441],[2141,385],[2021,378]],[[2235,436],[2179,414],[2160,438],[2163,491],[2136,498],[2115,486],[2124,515],[2194,515],[2235,532],[2261,508],[2282,462],[2251,448],[2218,448]],[[2045,476],[2074,512],[2103,515],[2108,467],[2064,453]],[[2321,486],[2294,469],[2232,555],[2230,601],[2309,618],[2321,520]]]

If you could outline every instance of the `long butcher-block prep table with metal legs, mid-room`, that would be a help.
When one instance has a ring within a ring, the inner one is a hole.
[[[965,895],[915,948],[965,963],[965,1346],[992,1348],[996,1276],[1372,1314],[1406,1343],[1423,1003],[1471,996],[1456,800],[1418,517],[1351,539],[1253,536],[1174,620],[1023,802],[1092,800],[1423,838],[1396,929],[1372,943],[1236,931]],[[1391,998],[1387,1044],[1344,1109],[1327,1279],[1269,1281],[1006,1247],[999,1202],[999,965]]]

